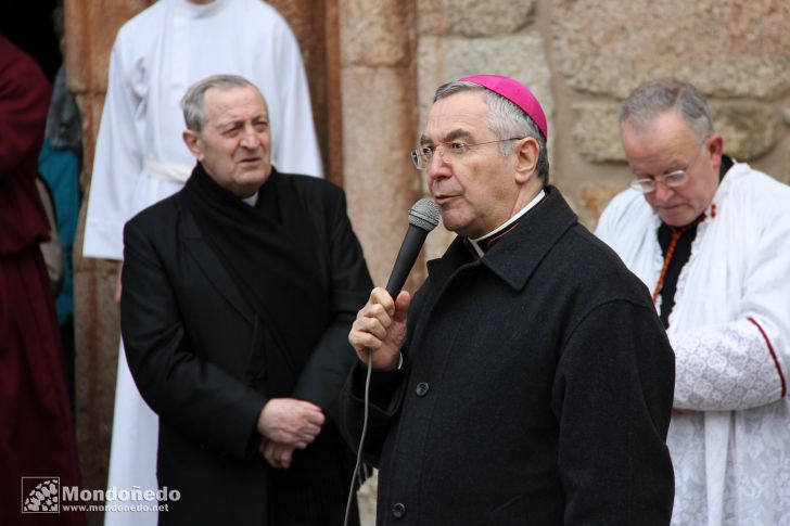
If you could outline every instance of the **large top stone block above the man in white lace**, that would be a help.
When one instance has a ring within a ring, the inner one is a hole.
[[[558,0],[556,56],[577,90],[625,98],[675,76],[723,97],[790,89],[787,0]]]

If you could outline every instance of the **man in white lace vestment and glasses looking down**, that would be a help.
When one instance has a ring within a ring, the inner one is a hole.
[[[790,188],[724,155],[691,85],[641,86],[620,121],[636,180],[596,233],[676,355],[672,524],[790,524]]]

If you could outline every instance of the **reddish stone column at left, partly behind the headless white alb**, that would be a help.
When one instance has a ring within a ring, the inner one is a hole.
[[[150,3],[145,0],[65,1],[65,67],[68,86],[77,93],[84,131],[80,175],[84,206],[73,256],[77,446],[82,487],[89,489],[106,485],[119,317],[113,298],[115,264],[82,258],[85,205],[115,34],[124,22]],[[102,516],[102,513],[89,513],[89,524],[101,524]]]

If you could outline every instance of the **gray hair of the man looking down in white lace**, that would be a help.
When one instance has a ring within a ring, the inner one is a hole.
[[[657,116],[672,110],[700,144],[713,133],[711,107],[704,95],[690,84],[674,78],[651,80],[634,90],[620,110],[620,127],[627,120],[637,129],[647,129]]]

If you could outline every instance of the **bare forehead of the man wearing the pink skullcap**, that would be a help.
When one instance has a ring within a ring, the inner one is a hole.
[[[493,134],[482,91],[454,93],[433,103],[421,143],[479,140]]]

